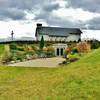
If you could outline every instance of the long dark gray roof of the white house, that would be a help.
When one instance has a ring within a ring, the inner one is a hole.
[[[68,36],[69,34],[81,34],[78,28],[61,28],[61,27],[37,27],[36,34],[49,36]]]

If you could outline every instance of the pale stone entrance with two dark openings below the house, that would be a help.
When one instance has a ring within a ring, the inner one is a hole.
[[[67,44],[59,43],[59,44],[53,44],[53,47],[55,49],[55,56],[63,56],[64,50],[68,47]]]

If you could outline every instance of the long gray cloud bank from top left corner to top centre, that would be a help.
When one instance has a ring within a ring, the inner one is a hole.
[[[53,0],[0,0],[0,19],[23,20],[26,17],[25,11],[52,11],[59,7],[58,4],[51,4]]]

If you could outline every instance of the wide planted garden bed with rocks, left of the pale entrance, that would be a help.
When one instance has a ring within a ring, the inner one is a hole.
[[[24,62],[38,58],[54,57],[54,49],[51,46],[40,49],[36,44],[8,44],[9,50],[4,50],[2,56],[3,64]]]

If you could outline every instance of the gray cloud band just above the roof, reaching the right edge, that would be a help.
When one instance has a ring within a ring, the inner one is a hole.
[[[43,20],[50,26],[72,27],[72,28],[81,28],[81,29],[88,28],[92,30],[100,30],[100,17],[95,17],[86,22],[82,22],[79,20],[76,20],[73,22],[68,19],[63,19],[57,16],[53,16],[51,13],[48,13],[48,14],[42,13],[42,14],[39,14],[39,16],[35,18],[35,20],[37,21]]]

